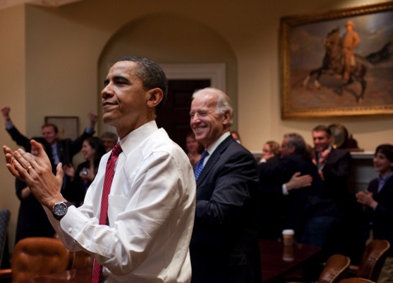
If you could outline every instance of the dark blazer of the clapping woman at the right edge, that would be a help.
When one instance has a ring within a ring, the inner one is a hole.
[[[386,181],[380,192],[378,192],[377,178],[370,181],[368,190],[372,192],[372,198],[378,203],[375,210],[370,207],[367,210],[372,223],[373,236],[375,239],[388,240],[389,256],[393,256],[393,176]]]

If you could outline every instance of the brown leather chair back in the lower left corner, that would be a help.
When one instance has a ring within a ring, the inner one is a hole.
[[[55,238],[31,237],[19,240],[12,255],[12,282],[66,271],[69,251]]]

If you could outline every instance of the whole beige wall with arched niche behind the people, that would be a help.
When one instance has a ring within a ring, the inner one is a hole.
[[[0,104],[12,107],[21,131],[39,135],[47,115],[78,116],[82,131],[87,113],[98,112],[98,68],[128,50],[166,64],[225,62],[227,92],[237,96],[237,129],[249,150],[260,150],[267,139],[280,141],[289,131],[311,143],[315,124],[333,122],[344,124],[365,150],[393,142],[392,116],[280,119],[280,17],[376,1],[139,2],[86,0],[61,8],[27,5],[0,10]],[[15,146],[5,131],[0,137]],[[0,177],[0,205],[12,211],[13,242],[19,201],[4,166]]]

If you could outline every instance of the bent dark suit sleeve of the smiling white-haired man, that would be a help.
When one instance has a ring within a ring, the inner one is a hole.
[[[215,165],[209,172],[210,178],[198,189],[212,194],[208,199],[197,200],[195,215],[196,223],[217,229],[244,220],[244,210],[258,194],[258,173],[251,155],[234,152],[221,158],[226,160],[218,161],[220,164]]]

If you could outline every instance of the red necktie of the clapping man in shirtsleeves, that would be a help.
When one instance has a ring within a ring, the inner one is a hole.
[[[106,162],[104,188],[102,190],[101,196],[100,225],[108,225],[108,196],[109,192],[111,192],[113,176],[115,175],[115,165],[117,157],[119,157],[122,151],[123,150],[120,146],[120,143],[117,143],[113,148],[111,155],[109,156],[108,162]],[[102,266],[98,264],[96,260],[94,260],[93,276],[91,278],[91,283],[100,282],[101,273]]]

